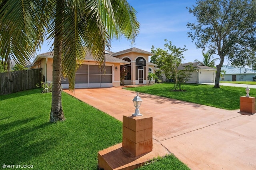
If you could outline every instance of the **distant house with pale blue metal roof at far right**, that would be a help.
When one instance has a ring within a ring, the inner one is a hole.
[[[248,68],[235,68],[222,65],[221,70],[226,71],[220,76],[220,81],[253,81],[256,71]]]

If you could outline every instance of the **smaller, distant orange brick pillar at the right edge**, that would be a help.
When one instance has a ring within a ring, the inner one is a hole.
[[[245,113],[255,113],[255,97],[240,97],[240,111]]]

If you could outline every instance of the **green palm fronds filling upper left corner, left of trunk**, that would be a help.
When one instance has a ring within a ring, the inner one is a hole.
[[[6,0],[0,5],[0,55],[26,65],[44,41],[48,17],[43,0]],[[42,7],[42,8],[40,8]]]

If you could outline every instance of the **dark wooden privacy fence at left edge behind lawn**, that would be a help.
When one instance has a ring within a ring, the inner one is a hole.
[[[0,95],[35,89],[41,81],[42,68],[0,73]]]

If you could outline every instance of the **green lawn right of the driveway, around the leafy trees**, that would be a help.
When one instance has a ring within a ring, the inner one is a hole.
[[[160,83],[127,89],[228,110],[239,109],[240,96],[246,95],[245,88],[240,87],[216,89],[213,85],[185,84],[186,91],[172,91],[173,86],[172,83]],[[256,89],[251,89],[250,96],[256,96]]]

